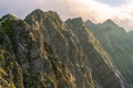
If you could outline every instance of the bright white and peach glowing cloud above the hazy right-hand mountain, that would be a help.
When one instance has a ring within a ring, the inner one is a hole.
[[[95,23],[112,19],[127,31],[133,30],[133,0],[124,0],[120,6],[111,7],[96,0],[69,0],[75,15]],[[72,7],[74,6],[74,8]]]

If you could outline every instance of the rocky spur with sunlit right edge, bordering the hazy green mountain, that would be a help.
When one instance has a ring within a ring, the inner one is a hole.
[[[117,70],[113,67],[110,56],[85,26],[82,19],[69,19],[66,24],[79,37],[85,58],[89,59],[89,65],[92,68],[92,75],[96,84],[103,88],[119,88],[120,79],[119,77],[115,78],[116,75],[120,76]]]

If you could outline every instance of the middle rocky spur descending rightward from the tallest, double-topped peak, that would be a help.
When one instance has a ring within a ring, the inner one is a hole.
[[[83,58],[84,55],[76,36],[62,22],[55,12],[34,10],[25,18],[25,21],[33,26],[34,30],[37,29],[37,32],[43,32],[45,40],[55,48],[57,55],[61,58],[60,61],[73,74],[79,88],[95,87],[91,76],[91,68],[84,64],[88,59]],[[84,76],[82,70],[85,70],[85,74],[88,74]]]

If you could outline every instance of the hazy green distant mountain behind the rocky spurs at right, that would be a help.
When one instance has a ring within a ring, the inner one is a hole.
[[[120,28],[111,20],[100,24],[86,21],[85,24],[112,57],[112,61],[125,79],[126,88],[132,88],[133,32],[125,32],[123,28]]]

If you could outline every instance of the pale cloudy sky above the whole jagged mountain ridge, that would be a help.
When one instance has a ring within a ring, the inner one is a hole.
[[[133,31],[133,0],[0,0],[0,18],[12,13],[24,19],[34,9],[57,11],[63,20],[81,16],[102,23],[111,19]]]

